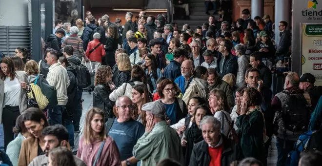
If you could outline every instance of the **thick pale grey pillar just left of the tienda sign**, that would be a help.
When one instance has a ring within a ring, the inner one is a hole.
[[[275,0],[275,43],[278,45],[280,42],[280,21],[287,22],[287,30],[292,26],[292,0]]]

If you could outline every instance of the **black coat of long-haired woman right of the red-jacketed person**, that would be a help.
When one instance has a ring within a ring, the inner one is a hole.
[[[107,38],[105,43],[105,62],[106,65],[113,67],[115,62],[115,50],[118,49],[118,40],[114,38]]]

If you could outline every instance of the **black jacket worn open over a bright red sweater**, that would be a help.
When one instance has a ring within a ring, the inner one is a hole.
[[[221,166],[229,166],[233,161],[242,159],[240,146],[234,143],[229,138],[220,134],[222,138],[222,153],[221,153]],[[194,145],[189,166],[209,166],[210,155],[208,152],[208,144],[203,140]]]

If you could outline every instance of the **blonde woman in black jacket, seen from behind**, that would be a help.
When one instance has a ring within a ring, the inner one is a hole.
[[[119,75],[116,79],[115,86],[120,87],[123,83],[127,83],[128,81],[130,81],[132,65],[129,56],[126,53],[118,54],[117,59]]]

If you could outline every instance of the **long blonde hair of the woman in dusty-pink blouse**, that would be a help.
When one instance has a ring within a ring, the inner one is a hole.
[[[91,127],[91,121],[93,120],[93,117],[95,114],[101,115],[103,117],[103,122],[105,122],[104,112],[100,108],[92,108],[86,113],[84,133],[83,133],[85,145],[90,145],[91,142],[94,140],[92,136],[93,129]],[[104,124],[102,125],[102,130],[99,133],[99,135],[100,135],[99,140],[103,141],[106,139],[106,130],[105,130]]]

